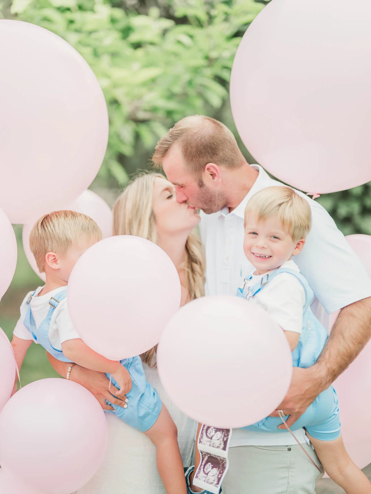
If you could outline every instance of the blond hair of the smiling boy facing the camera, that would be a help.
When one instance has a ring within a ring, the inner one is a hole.
[[[305,239],[311,229],[311,207],[290,187],[266,187],[254,194],[245,208],[245,223],[250,214],[259,219],[277,216],[294,242]]]

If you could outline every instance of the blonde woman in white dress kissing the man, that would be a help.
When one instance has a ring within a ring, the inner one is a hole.
[[[205,262],[200,238],[194,232],[199,221],[197,210],[179,204],[174,186],[158,173],[137,177],[113,208],[114,235],[136,235],[150,240],[163,248],[172,259],[181,280],[181,305],[204,294]],[[192,464],[197,423],[181,412],[166,395],[156,370],[156,347],[141,357],[147,380],[159,393],[178,427],[183,464],[188,467]],[[54,369],[64,377],[67,372],[64,363],[48,358]],[[70,379],[88,388],[103,408],[109,409],[104,399],[112,402],[112,396],[108,391],[97,393],[93,376],[100,383],[104,382],[100,373],[78,366],[73,367]],[[78,494],[165,493],[156,470],[155,448],[151,441],[113,414],[107,414],[107,421],[109,441],[106,459],[99,472]]]

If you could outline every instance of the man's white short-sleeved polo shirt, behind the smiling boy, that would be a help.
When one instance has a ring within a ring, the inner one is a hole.
[[[244,277],[254,270],[243,252],[244,210],[259,190],[284,184],[270,178],[259,165],[258,178],[247,196],[232,212],[228,207],[213,214],[201,212],[200,232],[206,250],[206,294],[235,295]],[[296,191],[298,192],[298,191]],[[316,299],[312,310],[326,329],[329,316],[346,305],[371,296],[371,279],[358,256],[337,229],[327,211],[302,192],[312,211],[312,229],[295,263],[308,280]],[[304,429],[296,436],[305,442]],[[260,433],[235,430],[230,446],[275,446],[296,444],[288,431]]]

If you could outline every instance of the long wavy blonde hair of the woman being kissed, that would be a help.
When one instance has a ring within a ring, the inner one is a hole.
[[[152,208],[153,186],[156,178],[165,179],[160,173],[141,173],[118,197],[113,206],[113,235],[136,235],[158,245],[155,215]],[[200,236],[193,230],[185,244],[184,265],[187,274],[189,299],[205,294],[205,258]],[[142,361],[153,367],[156,346],[143,353]]]

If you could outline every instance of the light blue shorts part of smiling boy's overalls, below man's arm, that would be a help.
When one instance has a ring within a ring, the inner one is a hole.
[[[285,418],[287,419],[287,416]],[[278,425],[281,424],[282,420],[279,417],[266,417],[260,422],[242,428],[262,432],[286,431],[286,429],[278,429]],[[321,441],[333,441],[340,436],[339,400],[332,386],[318,395],[290,429],[294,431],[301,427],[305,427],[308,434]]]

